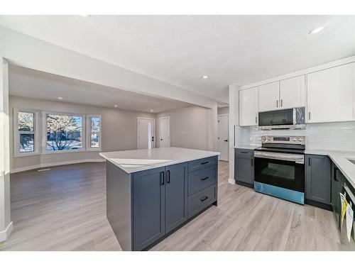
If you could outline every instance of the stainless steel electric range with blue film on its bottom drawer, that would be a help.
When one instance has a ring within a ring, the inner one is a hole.
[[[262,136],[254,151],[256,192],[305,204],[305,136]]]

